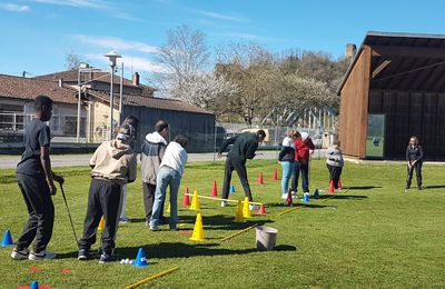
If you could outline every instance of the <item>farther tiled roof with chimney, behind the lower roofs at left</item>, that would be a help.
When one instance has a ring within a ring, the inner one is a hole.
[[[67,71],[60,71],[60,72],[55,72],[55,73],[50,73],[50,74],[44,74],[44,76],[39,76],[39,77],[34,77],[36,79],[40,79],[40,80],[49,80],[49,81],[59,81],[59,79],[63,79],[63,81],[68,81],[68,82],[78,82],[78,70],[77,69],[72,69],[72,70],[67,70]],[[106,83],[110,83],[110,73],[109,72],[83,72],[81,73],[81,80],[86,81],[86,80],[90,80],[90,79],[96,79],[96,81],[98,82],[106,82]],[[120,83],[120,77],[119,76],[113,76],[112,81],[118,84]],[[146,84],[139,84],[139,86],[135,86],[132,83],[131,80],[123,78],[123,86],[126,87],[135,87],[135,88],[141,88],[141,89],[148,89],[148,90],[152,90],[155,91],[156,89],[146,86]]]

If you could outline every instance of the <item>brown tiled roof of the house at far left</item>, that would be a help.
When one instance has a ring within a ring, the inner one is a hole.
[[[77,103],[75,93],[72,89],[60,88],[58,82],[0,74],[0,97],[31,100],[44,94],[55,102]]]

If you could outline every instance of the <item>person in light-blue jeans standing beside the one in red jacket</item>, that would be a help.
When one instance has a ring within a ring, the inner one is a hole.
[[[288,137],[283,140],[283,148],[278,155],[278,161],[283,167],[281,177],[281,199],[287,199],[287,190],[289,188],[289,180],[294,171],[295,149],[294,141],[300,138],[298,131],[291,131]]]

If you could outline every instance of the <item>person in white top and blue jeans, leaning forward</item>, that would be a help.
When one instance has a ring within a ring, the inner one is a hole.
[[[159,218],[162,209],[167,186],[170,187],[170,220],[171,230],[177,230],[178,222],[178,190],[180,179],[187,162],[187,138],[177,136],[171,141],[164,153],[162,161],[159,165],[158,176],[156,178],[156,192],[152,215],[150,218],[150,230],[159,231]]]

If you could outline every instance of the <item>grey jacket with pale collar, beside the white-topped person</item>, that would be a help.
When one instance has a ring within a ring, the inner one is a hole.
[[[159,132],[155,131],[146,136],[140,152],[140,168],[144,182],[156,185],[156,177],[158,176],[159,165],[166,147],[167,141]]]

